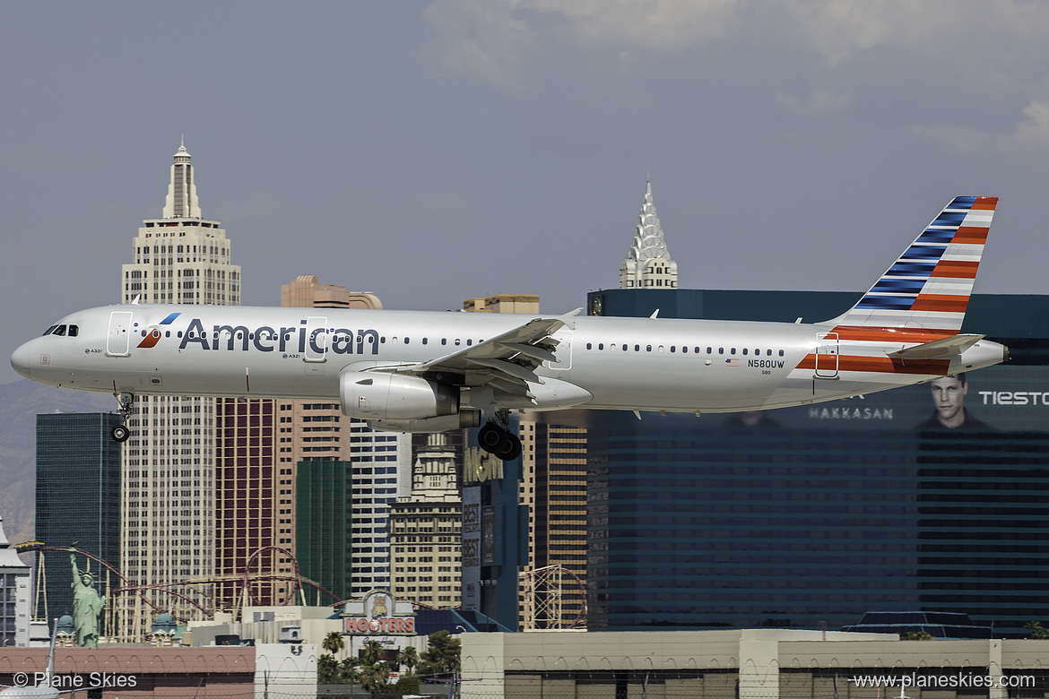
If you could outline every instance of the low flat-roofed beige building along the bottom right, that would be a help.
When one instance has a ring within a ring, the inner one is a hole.
[[[733,629],[475,633],[462,697],[850,699],[1044,697],[1049,640]],[[877,686],[876,686],[877,684]]]

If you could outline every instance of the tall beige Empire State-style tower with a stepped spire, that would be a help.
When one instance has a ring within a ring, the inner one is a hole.
[[[185,145],[171,166],[163,216],[146,219],[123,265],[124,303],[240,304],[240,267],[218,221],[204,219]],[[215,400],[135,397],[122,454],[120,568],[138,586],[214,575]],[[209,588],[184,590],[211,609]],[[149,591],[176,619],[199,618],[191,602]],[[137,641],[154,611],[138,595],[114,599],[117,639]]]

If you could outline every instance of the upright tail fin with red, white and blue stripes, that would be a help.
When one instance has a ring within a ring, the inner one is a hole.
[[[998,197],[956,197],[845,314],[835,330],[962,328]]]

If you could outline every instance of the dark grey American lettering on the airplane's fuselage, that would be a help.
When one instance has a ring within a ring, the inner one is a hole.
[[[150,336],[147,335],[146,340],[150,340]],[[155,344],[154,341],[153,345]],[[282,328],[272,328],[267,325],[257,328],[248,328],[243,325],[213,325],[209,333],[205,331],[200,319],[194,318],[183,333],[178,349],[186,349],[190,345],[198,345],[205,350],[226,349],[247,352],[254,349],[259,352],[276,350],[300,353],[305,352],[308,345],[309,350],[318,354],[322,354],[325,347],[336,354],[365,354],[369,350],[371,354],[379,354],[379,331],[372,328],[361,330],[312,328],[307,336],[306,321],[299,321],[298,326]]]

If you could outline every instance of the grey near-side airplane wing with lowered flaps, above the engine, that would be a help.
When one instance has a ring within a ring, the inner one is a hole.
[[[461,375],[466,386],[491,386],[497,393],[517,397],[517,401],[521,397],[530,400],[533,396],[528,383],[542,384],[535,370],[543,362],[557,364],[554,350],[557,349],[558,341],[554,340],[553,334],[581,311],[582,308],[577,308],[556,318],[536,318],[495,337],[436,359],[379,367],[376,370],[421,376]]]

